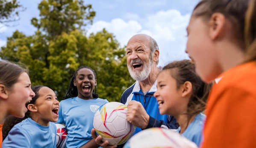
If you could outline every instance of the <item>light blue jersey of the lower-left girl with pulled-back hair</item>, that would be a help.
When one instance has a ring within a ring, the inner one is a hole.
[[[56,125],[43,126],[27,118],[11,129],[2,148],[56,148]]]

